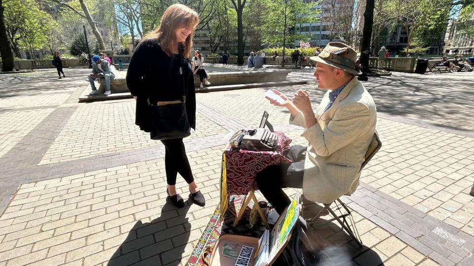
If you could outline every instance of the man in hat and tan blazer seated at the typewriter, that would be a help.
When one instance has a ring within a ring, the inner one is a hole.
[[[328,90],[316,112],[310,96],[298,90],[293,100],[274,90],[284,100],[270,102],[286,107],[290,123],[305,128],[301,134],[308,147],[292,146],[289,165],[267,166],[257,173],[258,188],[281,214],[290,199],[282,188],[303,188],[306,199],[330,203],[352,194],[359,184],[360,166],[372,141],[377,111],[372,96],[355,75],[356,51],[346,44],[330,42],[315,57],[317,89]]]

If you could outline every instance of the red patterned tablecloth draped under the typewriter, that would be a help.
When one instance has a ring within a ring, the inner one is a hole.
[[[281,132],[275,151],[252,151],[232,148],[224,151],[227,195],[247,195],[251,190],[258,190],[255,175],[267,166],[290,164],[291,160],[283,154],[290,149],[291,139]]]

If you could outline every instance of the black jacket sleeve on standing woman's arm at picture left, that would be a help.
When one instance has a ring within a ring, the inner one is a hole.
[[[145,67],[148,64],[145,63],[147,59],[146,45],[139,43],[130,58],[130,63],[127,69],[127,88],[132,96],[139,96],[142,94],[143,87],[143,73],[146,72]]]

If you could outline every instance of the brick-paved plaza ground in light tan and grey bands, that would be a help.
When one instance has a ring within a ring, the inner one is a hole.
[[[267,89],[198,94],[197,131],[185,144],[207,202],[175,209],[164,149],[134,126],[134,100],[77,103],[87,72],[0,75],[0,266],[184,264],[217,205],[232,133],[267,110],[276,130],[306,144],[288,113],[262,97]],[[308,89],[316,107],[323,92],[311,75],[296,70],[288,79],[308,84],[278,89]],[[343,198],[364,247],[328,216],[312,225],[350,255],[345,264],[474,264],[474,99],[464,85],[473,76],[394,73],[364,83],[383,146]],[[186,198],[180,177],[177,187]],[[304,215],[317,210],[306,204]]]

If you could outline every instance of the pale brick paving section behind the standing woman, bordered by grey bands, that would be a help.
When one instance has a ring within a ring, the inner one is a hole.
[[[135,125],[135,102],[90,103],[79,107],[49,146],[38,165],[161,145]],[[128,114],[128,115],[124,115]],[[88,121],[84,123],[83,121]],[[199,128],[190,139],[228,133],[197,113]]]

